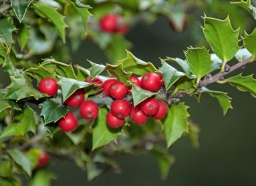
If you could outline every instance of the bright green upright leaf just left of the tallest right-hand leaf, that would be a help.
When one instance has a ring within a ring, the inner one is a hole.
[[[185,55],[190,71],[195,74],[198,79],[201,79],[201,77],[211,71],[213,61],[211,61],[211,55],[205,47],[188,48]]]

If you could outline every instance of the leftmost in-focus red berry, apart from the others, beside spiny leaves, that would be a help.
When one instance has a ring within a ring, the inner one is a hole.
[[[46,93],[47,95],[55,95],[57,93],[58,85],[55,79],[51,77],[46,77],[41,79],[38,84],[38,89],[41,93]]]

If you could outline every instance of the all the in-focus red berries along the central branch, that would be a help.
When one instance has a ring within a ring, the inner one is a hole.
[[[164,86],[162,75],[152,72],[142,75],[141,79],[131,76],[129,80],[134,85],[152,92],[156,92]],[[142,125],[148,121],[149,117],[162,119],[167,113],[167,104],[156,97],[148,97],[134,107],[132,101],[127,99],[127,95],[132,94],[132,86],[117,79],[110,78],[103,82],[98,77],[91,80],[89,76],[85,81],[99,85],[99,91],[106,97],[112,98],[109,105],[110,111],[106,115],[106,123],[109,127],[122,127],[126,118],[130,118],[137,125]],[[38,89],[42,93],[53,96],[57,93],[58,85],[55,79],[47,77],[41,79]],[[68,107],[79,107],[80,116],[86,120],[93,120],[99,114],[98,104],[90,99],[85,100],[84,89],[77,89],[63,104]],[[78,127],[78,119],[70,111],[65,117],[59,119],[58,123],[60,129],[65,132],[74,131]]]

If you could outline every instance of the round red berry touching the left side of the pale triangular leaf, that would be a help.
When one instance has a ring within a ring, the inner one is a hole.
[[[108,93],[114,99],[123,99],[128,93],[128,87],[124,83],[116,81],[110,85]]]

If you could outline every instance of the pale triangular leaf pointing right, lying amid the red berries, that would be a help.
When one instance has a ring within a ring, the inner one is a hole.
[[[134,107],[148,97],[152,97],[153,95],[157,95],[157,93],[147,91],[145,89],[142,89],[141,87],[132,84],[132,100],[134,103]]]

